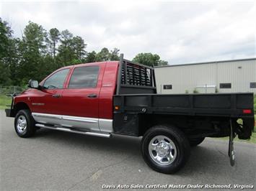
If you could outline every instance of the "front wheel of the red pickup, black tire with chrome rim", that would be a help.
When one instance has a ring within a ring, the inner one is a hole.
[[[19,122],[24,121],[25,122]],[[25,126],[22,126],[26,124]],[[25,127],[25,128],[24,128]],[[18,136],[22,138],[27,138],[35,134],[35,121],[32,118],[31,112],[28,109],[20,110],[15,116],[14,128]],[[23,130],[22,130],[23,128]]]

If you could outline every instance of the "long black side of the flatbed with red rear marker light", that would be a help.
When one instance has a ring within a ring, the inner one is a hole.
[[[253,117],[253,93],[114,95],[115,113]],[[251,113],[244,113],[251,110]]]

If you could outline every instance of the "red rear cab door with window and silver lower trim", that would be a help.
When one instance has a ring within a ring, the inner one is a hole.
[[[105,63],[74,67],[62,93],[62,126],[99,129],[99,94]]]

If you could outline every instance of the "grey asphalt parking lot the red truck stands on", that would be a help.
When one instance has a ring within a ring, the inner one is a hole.
[[[253,185],[256,144],[236,142],[229,165],[228,141],[206,139],[191,149],[177,174],[160,174],[141,157],[140,139],[112,139],[40,129],[19,138],[14,119],[0,111],[1,190],[101,190],[102,185]]]

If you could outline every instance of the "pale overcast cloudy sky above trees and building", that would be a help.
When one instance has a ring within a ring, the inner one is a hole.
[[[87,51],[152,52],[169,64],[256,57],[254,1],[2,1],[0,17],[20,37],[29,21],[69,29]]]

